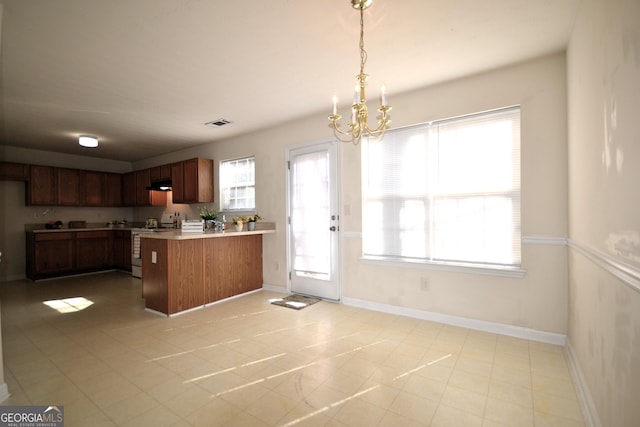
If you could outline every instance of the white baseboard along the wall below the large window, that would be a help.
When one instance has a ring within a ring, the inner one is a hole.
[[[382,304],[377,302],[365,301],[356,298],[344,297],[342,302],[345,305],[353,307],[365,308],[369,310],[381,311],[383,313],[397,314],[400,316],[408,316],[421,320],[430,320],[433,322],[444,323],[446,325],[459,326],[462,328],[474,329],[483,332],[492,332],[510,337],[522,338],[531,341],[538,341],[547,344],[555,344],[565,346],[567,336],[554,332],[538,331],[535,329],[523,328],[521,326],[506,325],[503,323],[487,322],[484,320],[469,319],[466,317],[451,316],[448,314],[434,313],[425,310],[417,310],[413,308],[399,307],[395,305]]]

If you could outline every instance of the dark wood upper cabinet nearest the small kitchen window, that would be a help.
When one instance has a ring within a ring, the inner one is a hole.
[[[173,203],[213,202],[213,160],[195,158],[171,165]]]

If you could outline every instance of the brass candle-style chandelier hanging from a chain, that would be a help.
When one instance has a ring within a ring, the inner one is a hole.
[[[356,95],[355,101],[351,105],[349,130],[343,131],[340,129],[339,121],[342,116],[338,114],[338,99],[335,96],[333,97],[333,109],[329,116],[331,121],[329,127],[333,129],[335,137],[339,141],[352,142],[354,145],[358,145],[363,136],[382,137],[388,127],[387,125],[391,122],[387,114],[391,110],[391,106],[387,104],[385,87],[382,85],[380,89],[380,107],[378,107],[380,114],[377,117],[378,126],[373,129],[369,127],[369,112],[365,95],[368,76],[364,72],[364,64],[367,62],[367,52],[364,50],[364,10],[371,6],[371,3],[373,3],[373,0],[351,0],[353,8],[360,10],[360,73],[356,76]]]

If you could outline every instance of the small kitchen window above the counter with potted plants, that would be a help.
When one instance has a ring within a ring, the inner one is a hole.
[[[220,163],[220,194],[223,211],[255,209],[255,157]]]

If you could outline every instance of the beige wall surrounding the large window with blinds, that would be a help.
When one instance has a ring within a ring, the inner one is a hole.
[[[566,333],[566,82],[563,54],[426,88],[393,99],[403,126],[508,105],[522,112],[524,278],[371,265],[359,234],[345,239],[344,295],[384,305]],[[344,147],[343,191],[360,231],[358,151]],[[544,173],[540,173],[544,170]],[[543,239],[542,236],[550,237]],[[554,243],[558,243],[557,245]],[[426,280],[428,289],[421,290]]]

